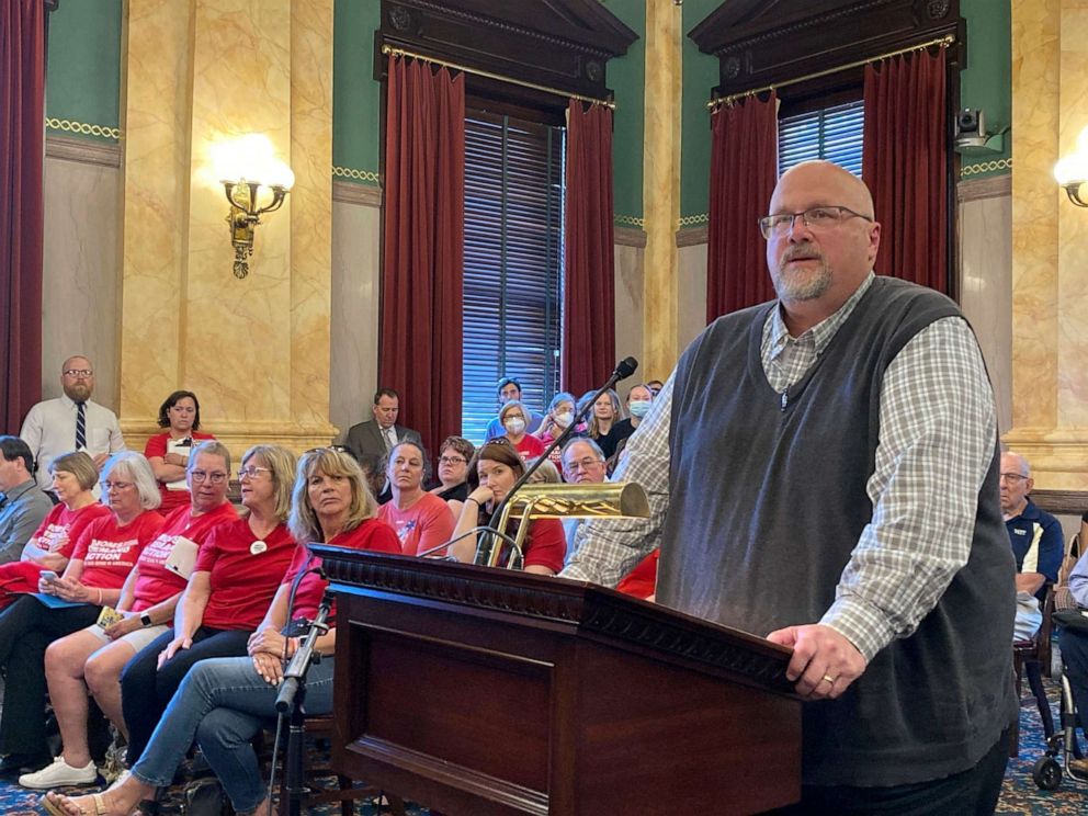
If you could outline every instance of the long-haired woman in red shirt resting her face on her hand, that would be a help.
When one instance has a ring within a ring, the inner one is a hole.
[[[457,528],[453,537],[465,535],[475,526],[484,526],[499,502],[510,492],[513,484],[521,478],[525,466],[513,447],[502,440],[492,439],[484,444],[468,466],[471,492],[462,505],[451,501],[450,507],[457,515]],[[511,531],[505,531],[511,535]],[[530,522],[525,536],[526,573],[555,575],[563,569],[563,556],[567,542],[563,535],[563,524],[558,519],[535,519]],[[472,564],[476,556],[476,533],[465,535],[450,545],[450,555],[465,564]]]

